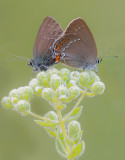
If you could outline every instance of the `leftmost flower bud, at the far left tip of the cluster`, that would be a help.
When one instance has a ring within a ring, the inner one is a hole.
[[[1,104],[2,104],[3,108],[6,108],[6,109],[14,108],[12,106],[12,102],[11,102],[10,97],[3,97],[2,100],[1,100]]]

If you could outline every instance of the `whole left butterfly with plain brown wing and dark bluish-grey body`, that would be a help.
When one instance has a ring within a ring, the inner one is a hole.
[[[52,17],[44,19],[36,36],[33,48],[34,59],[30,59],[28,64],[34,68],[34,71],[47,70],[55,63],[55,59],[52,58],[54,44],[62,33],[61,26]]]

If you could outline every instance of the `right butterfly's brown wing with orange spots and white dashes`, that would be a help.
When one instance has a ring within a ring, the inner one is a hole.
[[[55,53],[61,53],[60,61],[73,66],[86,68],[97,58],[94,38],[87,24],[81,19],[73,20],[63,36],[55,43]]]

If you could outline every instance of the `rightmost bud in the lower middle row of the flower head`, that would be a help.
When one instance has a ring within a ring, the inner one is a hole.
[[[73,99],[76,99],[80,95],[80,89],[77,86],[72,86],[68,89],[68,98],[65,102],[70,102]]]

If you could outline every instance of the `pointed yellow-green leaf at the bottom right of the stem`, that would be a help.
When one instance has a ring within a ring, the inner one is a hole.
[[[82,155],[84,150],[85,150],[85,143],[84,143],[84,141],[82,141],[73,148],[72,152],[68,155],[68,158],[74,159],[74,158]]]

